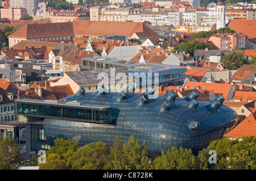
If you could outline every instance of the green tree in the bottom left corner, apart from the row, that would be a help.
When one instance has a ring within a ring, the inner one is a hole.
[[[20,153],[22,145],[17,139],[0,137],[0,170],[18,169],[20,162],[24,159],[24,154]]]

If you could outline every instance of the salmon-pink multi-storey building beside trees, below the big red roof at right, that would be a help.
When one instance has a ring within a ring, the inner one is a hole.
[[[221,50],[234,50],[236,48],[245,48],[245,36],[241,33],[212,35],[209,41],[212,41],[212,43]]]

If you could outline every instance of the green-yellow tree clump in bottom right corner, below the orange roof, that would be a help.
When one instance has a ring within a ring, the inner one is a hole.
[[[200,168],[206,170],[255,170],[256,138],[242,137],[240,140],[222,138],[210,142],[199,151]],[[216,151],[216,163],[209,162],[209,151]]]

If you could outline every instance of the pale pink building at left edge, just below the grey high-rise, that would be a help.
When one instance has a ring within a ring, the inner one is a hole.
[[[7,18],[10,20],[19,20],[27,15],[27,10],[25,8],[2,8],[1,18]]]

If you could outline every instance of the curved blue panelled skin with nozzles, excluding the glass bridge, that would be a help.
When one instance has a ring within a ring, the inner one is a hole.
[[[52,146],[62,137],[81,146],[96,141],[112,145],[115,136],[124,142],[133,135],[141,144],[146,143],[150,154],[160,154],[171,146],[199,151],[238,124],[236,112],[222,105],[223,96],[208,102],[196,100],[194,91],[182,99],[172,91],[156,99],[148,99],[150,94],[150,89],[143,94],[81,90],[63,101],[112,107],[112,123],[45,119],[48,144]]]

